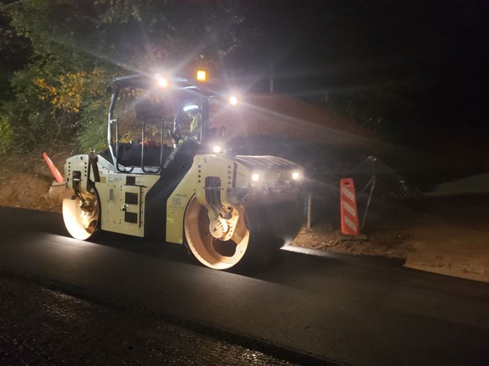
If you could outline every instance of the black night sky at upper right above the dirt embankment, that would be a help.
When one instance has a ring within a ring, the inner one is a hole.
[[[414,102],[418,123],[480,128],[489,112],[488,3],[249,1],[246,26],[261,32],[256,51],[237,60],[256,73],[273,63],[279,92],[393,86]]]

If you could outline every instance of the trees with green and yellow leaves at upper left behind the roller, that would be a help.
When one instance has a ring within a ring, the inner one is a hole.
[[[83,151],[105,148],[112,77],[161,68],[217,74],[240,45],[242,22],[231,0],[29,0],[8,15],[31,43],[29,65],[10,79],[14,98],[0,99],[8,146],[20,150],[73,139]]]

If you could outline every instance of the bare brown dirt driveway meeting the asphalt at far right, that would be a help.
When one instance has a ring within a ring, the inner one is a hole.
[[[489,195],[412,201],[414,213],[404,266],[489,282]]]

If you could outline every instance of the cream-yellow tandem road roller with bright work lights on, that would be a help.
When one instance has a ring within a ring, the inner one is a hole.
[[[108,148],[66,160],[68,233],[160,238],[226,270],[273,255],[302,224],[302,168],[235,155],[212,117],[243,108],[190,77],[129,75],[110,84]],[[229,97],[229,98],[228,98]],[[243,122],[245,123],[245,122]]]

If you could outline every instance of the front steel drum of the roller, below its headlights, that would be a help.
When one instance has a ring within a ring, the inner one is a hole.
[[[204,266],[226,270],[238,264],[253,266],[273,258],[290,244],[302,226],[299,199],[284,199],[264,204],[263,200],[244,201],[230,240],[221,241],[210,234],[207,208],[194,197],[184,216],[184,234],[189,250]]]

